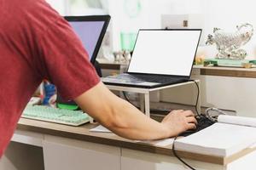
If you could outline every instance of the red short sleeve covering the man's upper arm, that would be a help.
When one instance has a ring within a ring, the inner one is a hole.
[[[60,18],[38,41],[38,72],[54,83],[63,99],[75,99],[100,82],[79,37]]]

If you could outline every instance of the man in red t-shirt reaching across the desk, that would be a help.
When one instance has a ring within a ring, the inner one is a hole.
[[[72,28],[44,0],[0,0],[0,157],[44,78],[127,139],[164,139],[195,128],[191,111],[173,111],[162,122],[144,116],[100,82],[86,56]]]

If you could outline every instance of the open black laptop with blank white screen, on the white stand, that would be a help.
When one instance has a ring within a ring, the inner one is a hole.
[[[158,88],[188,82],[201,29],[140,30],[126,73],[103,77],[107,85]]]

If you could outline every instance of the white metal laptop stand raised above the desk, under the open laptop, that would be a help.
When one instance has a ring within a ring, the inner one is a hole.
[[[200,80],[195,80],[197,82],[199,89],[201,88]],[[140,94],[140,107],[141,111],[143,111],[146,116],[150,116],[150,101],[149,101],[149,93],[157,90],[162,90],[166,88],[175,88],[178,86],[184,86],[184,85],[194,85],[195,82],[181,82],[177,84],[172,84],[160,88],[132,88],[132,87],[126,87],[126,86],[114,86],[114,85],[106,85],[108,89],[110,90],[117,90],[117,91],[124,91],[124,92],[132,92],[132,93],[138,93]],[[201,95],[199,95],[198,99],[198,105],[197,105],[197,111],[201,113]]]

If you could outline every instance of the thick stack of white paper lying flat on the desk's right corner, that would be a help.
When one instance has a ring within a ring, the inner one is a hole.
[[[215,123],[198,133],[177,139],[175,148],[212,156],[231,156],[256,143],[256,128]]]

